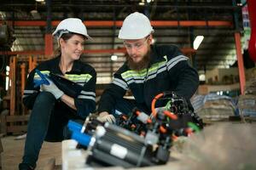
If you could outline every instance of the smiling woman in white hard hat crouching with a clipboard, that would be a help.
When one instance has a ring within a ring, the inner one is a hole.
[[[54,59],[44,61],[36,69],[44,75],[54,73],[66,77],[76,82],[75,87],[80,87],[81,90],[71,96],[57,86],[50,76],[47,77],[49,84],[41,84],[35,88],[35,81],[40,79],[39,73],[35,69],[29,74],[23,103],[28,109],[32,109],[32,113],[20,169],[36,167],[44,140],[55,142],[65,139],[68,120],[84,121],[96,109],[96,71],[90,65],[79,61],[84,41],[91,39],[86,27],[81,20],[68,18],[60,22],[53,36],[58,41],[60,54]]]

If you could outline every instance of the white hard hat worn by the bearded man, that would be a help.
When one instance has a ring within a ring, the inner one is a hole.
[[[135,12],[129,14],[119,31],[119,39],[136,40],[147,37],[153,33],[154,29],[148,20],[148,17],[144,14]]]

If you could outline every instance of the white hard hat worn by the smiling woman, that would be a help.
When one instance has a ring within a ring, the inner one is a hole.
[[[52,35],[59,39],[62,36],[62,34],[70,32],[81,34],[87,37],[88,39],[92,39],[88,35],[84,23],[82,22],[82,20],[78,18],[68,18],[65,20],[61,20],[60,24],[56,27],[56,30],[52,33]]]

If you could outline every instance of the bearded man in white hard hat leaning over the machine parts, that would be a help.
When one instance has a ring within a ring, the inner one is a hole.
[[[119,31],[124,41],[127,61],[113,75],[113,82],[103,92],[98,112],[102,122],[115,122],[119,114],[129,115],[134,107],[150,115],[154,96],[172,91],[189,99],[199,85],[197,71],[189,65],[189,58],[173,45],[152,45],[154,29],[141,13],[128,15]],[[124,99],[131,90],[134,99]],[[166,105],[157,102],[156,107]]]

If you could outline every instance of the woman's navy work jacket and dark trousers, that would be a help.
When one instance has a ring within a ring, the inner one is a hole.
[[[36,69],[43,74],[52,72],[62,75],[59,68],[60,59],[61,57],[58,56],[44,61]],[[53,94],[40,92],[40,87],[34,88],[34,80],[39,78],[35,70],[29,74],[27,79],[23,103],[28,109],[32,109],[32,114],[28,122],[27,133],[29,135],[26,136],[23,161],[31,165],[38,160],[38,153],[44,140],[56,142],[66,139],[66,125],[69,120],[84,122],[85,117],[96,110],[96,71],[94,68],[75,60],[72,70],[62,76],[83,87],[78,96],[74,98],[77,111],[67,106],[61,99],[55,99]]]

